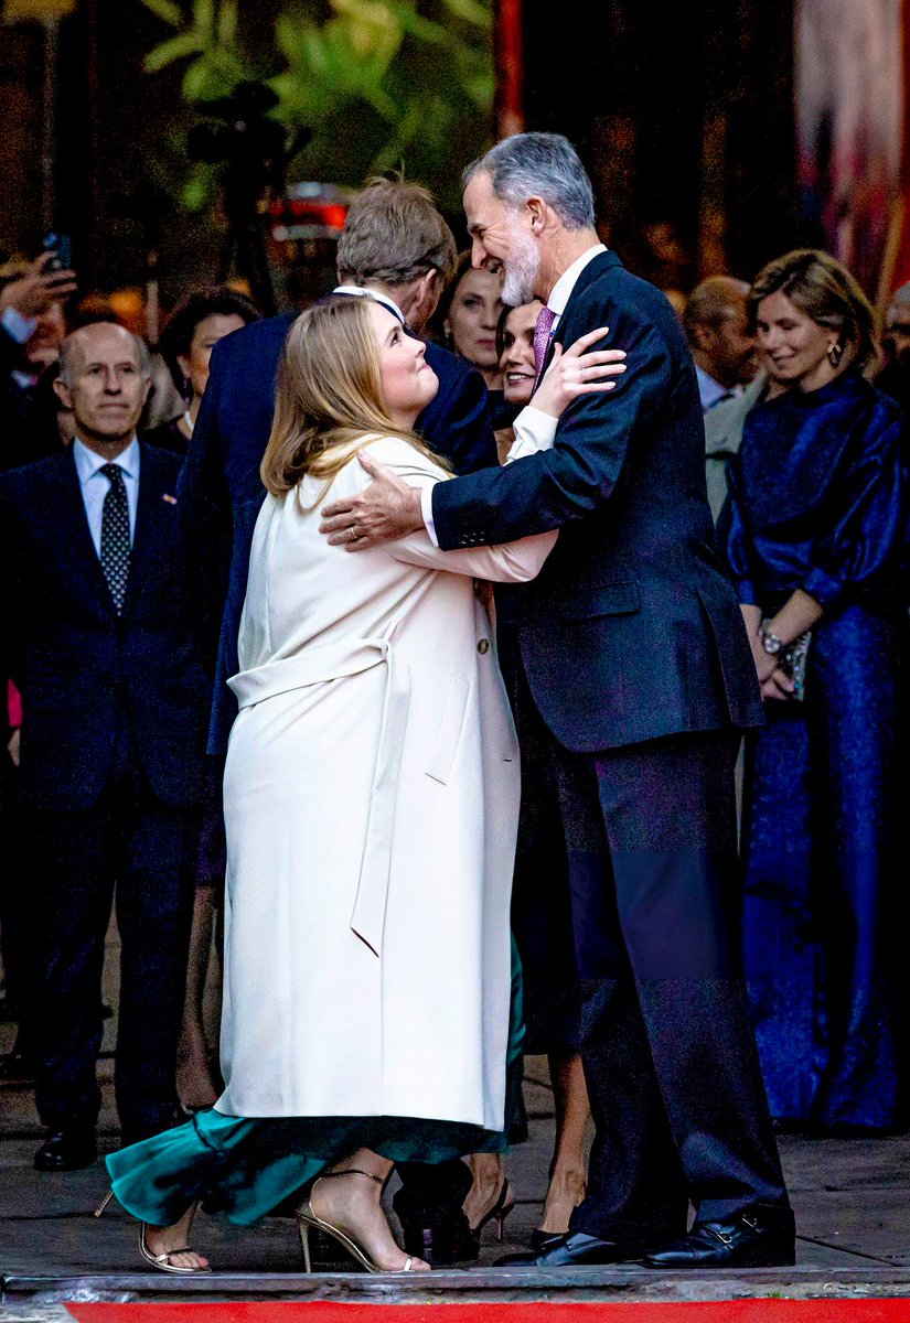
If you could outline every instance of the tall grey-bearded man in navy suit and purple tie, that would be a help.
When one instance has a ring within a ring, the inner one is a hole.
[[[546,304],[541,366],[606,325],[627,370],[565,411],[550,450],[426,501],[368,459],[377,482],[323,527],[354,552],[419,527],[443,548],[561,529],[517,627],[570,853],[597,1138],[570,1232],[518,1261],[792,1262],[738,960],[733,770],[762,709],[713,549],[692,357],[667,299],[598,242],[565,138],[499,143],[464,208],[504,300]]]

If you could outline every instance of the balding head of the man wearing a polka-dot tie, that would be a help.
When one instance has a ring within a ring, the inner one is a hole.
[[[148,398],[149,368],[143,341],[116,321],[93,321],[63,340],[54,389],[90,450],[114,459],[130,445]]]

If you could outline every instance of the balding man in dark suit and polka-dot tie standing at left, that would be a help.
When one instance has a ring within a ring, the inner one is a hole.
[[[144,345],[111,323],[63,344],[77,439],[0,478],[4,660],[22,695],[19,798],[42,947],[34,1164],[95,1159],[101,975],[116,885],[124,1143],[177,1117],[210,673],[177,519],[180,458],[136,441]]]

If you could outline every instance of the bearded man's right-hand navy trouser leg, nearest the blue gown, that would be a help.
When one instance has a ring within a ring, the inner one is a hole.
[[[739,967],[737,746],[684,734],[594,759],[619,925],[701,1218],[787,1207]]]

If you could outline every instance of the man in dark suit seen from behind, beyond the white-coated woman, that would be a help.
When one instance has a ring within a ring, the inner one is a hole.
[[[339,242],[339,292],[380,299],[411,333],[433,316],[455,270],[455,239],[426,189],[378,180],[352,204]],[[212,355],[180,505],[210,598],[224,601],[209,753],[224,757],[237,716],[226,685],[237,671],[253,529],[265,490],[259,463],[271,431],[275,374],[294,314],[257,321],[220,340]],[[480,373],[430,341],[426,361],[439,378],[417,430],[458,472],[496,463],[496,441]],[[221,583],[213,593],[212,585]],[[407,1253],[434,1265],[476,1257],[460,1205],[471,1185],[463,1163],[399,1167],[395,1212]]]

